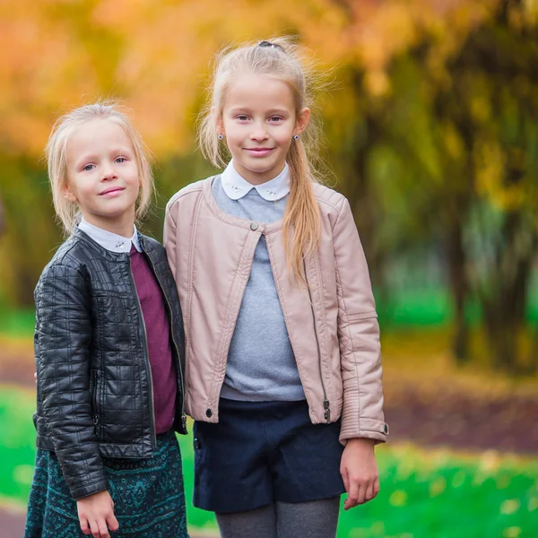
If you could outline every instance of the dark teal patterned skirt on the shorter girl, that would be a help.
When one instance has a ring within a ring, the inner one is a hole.
[[[178,440],[157,436],[148,459],[103,458],[119,529],[114,538],[187,538]],[[24,538],[87,538],[54,452],[38,450]]]

